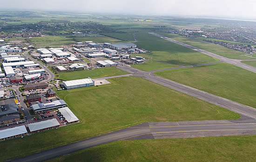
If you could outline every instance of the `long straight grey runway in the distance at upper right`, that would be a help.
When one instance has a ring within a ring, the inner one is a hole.
[[[180,44],[180,45],[182,45],[184,47],[187,47],[189,49],[196,50],[196,51],[201,52],[201,53],[203,53],[205,55],[208,55],[208,56],[211,56],[211,57],[215,57],[215,58],[217,58],[217,59],[219,59],[221,61],[224,61],[224,62],[233,64],[233,65],[236,65],[236,66],[238,66],[240,68],[243,68],[243,69],[246,69],[246,70],[249,70],[249,71],[252,71],[252,72],[256,73],[256,67],[252,67],[252,66],[249,66],[247,64],[244,64],[244,63],[241,62],[241,60],[230,59],[230,58],[226,58],[226,57],[223,57],[223,56],[220,56],[220,55],[216,55],[216,54],[214,54],[212,52],[208,52],[206,50],[202,50],[202,49],[196,48],[196,47],[191,46],[189,44],[184,44],[182,42],[176,41],[176,40],[168,38],[168,37],[161,36],[161,35],[153,33],[153,32],[150,32],[150,34],[152,34],[154,36],[157,36],[157,37],[161,37],[161,38],[163,38],[165,40],[168,40],[168,41],[171,41],[171,42],[173,42],[175,44]]]

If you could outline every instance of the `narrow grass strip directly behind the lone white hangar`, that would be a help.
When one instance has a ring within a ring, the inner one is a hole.
[[[115,67],[110,67],[110,68],[102,68],[102,69],[81,70],[81,71],[60,73],[58,79],[70,81],[70,80],[83,79],[88,77],[101,78],[105,76],[115,76],[115,75],[123,75],[123,74],[128,74],[128,73],[120,69],[117,69]]]

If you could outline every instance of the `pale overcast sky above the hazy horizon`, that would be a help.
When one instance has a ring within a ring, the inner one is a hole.
[[[0,9],[196,15],[256,20],[256,0],[1,0]]]

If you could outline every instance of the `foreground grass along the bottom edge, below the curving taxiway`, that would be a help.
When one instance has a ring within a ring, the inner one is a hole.
[[[256,136],[117,141],[47,162],[255,162]]]

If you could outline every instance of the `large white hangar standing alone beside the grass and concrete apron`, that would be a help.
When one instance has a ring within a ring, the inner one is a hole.
[[[91,78],[87,78],[87,79],[79,79],[79,80],[73,80],[73,81],[63,81],[62,85],[66,89],[89,87],[89,86],[94,86],[94,80],[92,80]]]

